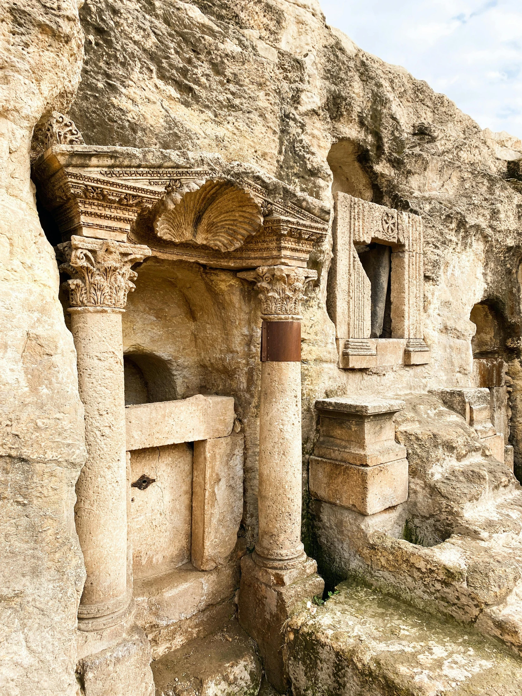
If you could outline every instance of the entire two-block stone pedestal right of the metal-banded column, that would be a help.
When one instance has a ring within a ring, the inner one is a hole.
[[[395,442],[395,399],[322,399],[320,436],[310,457],[310,495],[362,512],[381,512],[408,499],[406,448]]]

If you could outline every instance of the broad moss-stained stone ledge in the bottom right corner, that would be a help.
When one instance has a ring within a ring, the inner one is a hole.
[[[287,625],[294,696],[518,696],[522,660],[468,625],[352,585]]]

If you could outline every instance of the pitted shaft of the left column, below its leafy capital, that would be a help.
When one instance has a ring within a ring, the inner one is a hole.
[[[122,310],[71,314],[88,450],[74,508],[87,571],[79,617],[95,618],[129,603]]]

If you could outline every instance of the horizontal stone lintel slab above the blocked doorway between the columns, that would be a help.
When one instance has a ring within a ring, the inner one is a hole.
[[[127,451],[226,437],[234,425],[234,399],[203,396],[137,404],[125,409]]]

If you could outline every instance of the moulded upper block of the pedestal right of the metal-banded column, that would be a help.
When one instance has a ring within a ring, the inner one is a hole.
[[[399,399],[374,397],[317,400],[320,435],[314,454],[359,466],[405,459],[406,448],[395,442],[393,424],[394,413],[404,406]]]

